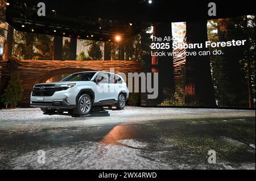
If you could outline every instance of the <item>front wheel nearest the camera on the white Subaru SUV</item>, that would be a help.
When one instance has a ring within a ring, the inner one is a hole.
[[[77,101],[77,107],[75,108],[75,113],[77,115],[87,115],[92,108],[92,99],[88,94],[82,94]]]

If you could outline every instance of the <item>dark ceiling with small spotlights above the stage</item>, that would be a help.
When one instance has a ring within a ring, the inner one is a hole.
[[[142,22],[183,22],[213,19],[208,3],[217,5],[216,18],[255,14],[255,1],[156,1],[148,0],[7,0],[6,22],[16,30],[49,35],[76,36],[107,41],[117,34],[129,38]],[[37,4],[46,4],[46,16],[37,15]],[[54,10],[54,11],[52,11]],[[130,24],[131,23],[131,24]],[[24,25],[24,27],[22,27]],[[64,35],[65,34],[65,35]]]

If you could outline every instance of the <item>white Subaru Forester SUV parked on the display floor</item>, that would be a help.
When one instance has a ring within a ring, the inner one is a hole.
[[[33,87],[30,106],[44,113],[68,111],[87,115],[92,106],[125,108],[129,90],[123,78],[105,71],[74,73],[60,82],[39,83]]]

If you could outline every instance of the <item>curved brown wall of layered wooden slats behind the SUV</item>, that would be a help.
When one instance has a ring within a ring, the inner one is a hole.
[[[39,79],[42,79],[47,73],[53,70],[65,68],[77,68],[86,70],[109,71],[114,68],[115,73],[134,73],[141,72],[141,62],[138,61],[44,61],[44,60],[22,60],[16,70],[20,73],[20,79],[24,89],[23,99],[19,102],[20,106],[26,107],[30,102],[32,87]],[[63,70],[64,71],[64,70]],[[74,70],[76,71],[76,70]],[[63,72],[65,73],[65,72]],[[7,61],[2,62],[2,79],[0,84],[0,94],[7,86],[10,78],[10,69],[7,67]]]

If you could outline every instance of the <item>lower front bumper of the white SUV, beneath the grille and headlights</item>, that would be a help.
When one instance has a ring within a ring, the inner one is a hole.
[[[42,108],[59,108],[59,109],[76,108],[76,105],[69,104],[65,100],[54,100],[52,102],[31,101],[30,106],[32,106],[32,107],[42,107]]]

